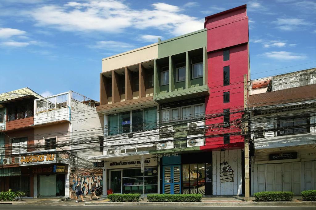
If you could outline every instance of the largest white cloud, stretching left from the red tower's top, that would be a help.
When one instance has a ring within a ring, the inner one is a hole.
[[[64,5],[40,5],[29,12],[36,26],[61,31],[119,33],[127,28],[155,28],[182,35],[204,28],[204,20],[181,14],[179,7],[153,3],[153,9],[131,9],[122,1],[68,2]]]

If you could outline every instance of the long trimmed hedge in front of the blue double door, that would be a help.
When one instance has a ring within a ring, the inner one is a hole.
[[[150,202],[199,202],[201,194],[149,194],[147,199]]]

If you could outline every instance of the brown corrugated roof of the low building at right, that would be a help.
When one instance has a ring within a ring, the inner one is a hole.
[[[316,84],[249,95],[248,107],[287,104],[316,98]]]

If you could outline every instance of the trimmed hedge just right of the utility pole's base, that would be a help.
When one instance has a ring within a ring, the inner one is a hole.
[[[283,191],[256,192],[253,196],[256,201],[292,201],[294,193]]]

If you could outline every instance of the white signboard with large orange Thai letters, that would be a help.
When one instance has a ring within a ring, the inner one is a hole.
[[[56,163],[55,154],[20,156],[20,165]]]

